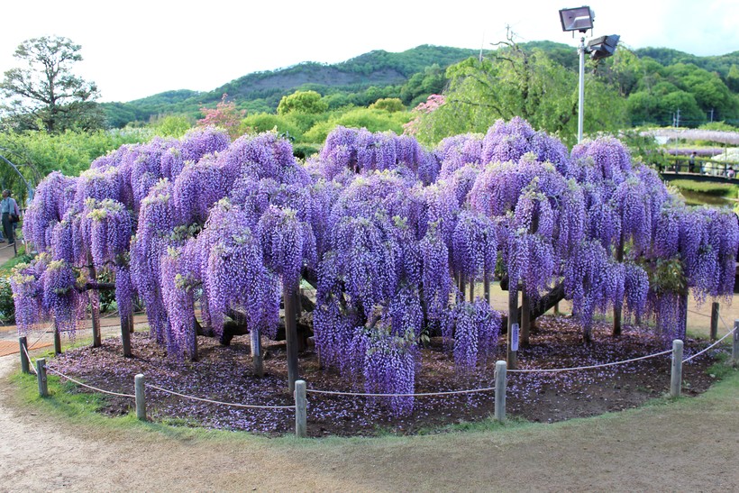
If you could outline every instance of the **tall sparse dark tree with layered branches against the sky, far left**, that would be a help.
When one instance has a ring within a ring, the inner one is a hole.
[[[33,38],[18,46],[14,57],[24,66],[7,70],[0,83],[9,99],[3,109],[15,128],[63,132],[103,126],[95,83],[72,73],[72,65],[82,59],[79,50],[80,45],[59,36]]]

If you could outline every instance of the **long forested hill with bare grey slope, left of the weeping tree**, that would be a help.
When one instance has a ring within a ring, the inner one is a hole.
[[[443,70],[477,53],[477,50],[431,45],[400,53],[375,50],[331,65],[304,62],[288,68],[255,72],[209,92],[167,91],[128,103],[105,103],[103,107],[113,126],[146,121],[155,114],[196,116],[200,107],[214,106],[224,94],[228,94],[240,108],[250,112],[269,112],[274,111],[282,96],[297,89],[314,89],[326,96],[361,93],[370,87],[403,85],[408,78],[423,73],[427,68]]]

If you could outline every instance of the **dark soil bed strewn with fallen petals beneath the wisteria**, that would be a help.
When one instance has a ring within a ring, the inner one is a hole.
[[[666,342],[648,330],[625,326],[623,335],[614,338],[610,327],[594,328],[594,342],[580,342],[579,325],[562,316],[543,316],[537,321],[531,346],[518,351],[520,369],[571,368],[623,361],[670,349]],[[501,336],[495,359],[505,359],[505,340]],[[132,334],[134,358],[122,356],[117,338],[104,341],[100,348],[70,350],[50,361],[50,367],[82,379],[88,385],[114,392],[133,394],[133,378],[138,373],[147,383],[188,396],[216,401],[263,405],[294,404],[287,392],[287,361],[284,342],[265,342],[264,378],[251,374],[249,336],[233,339],[221,346],[212,338],[200,337],[196,362],[175,361],[164,348],[145,333]],[[685,356],[706,346],[705,342],[686,341]],[[707,351],[683,365],[683,394],[695,396],[705,391],[714,378],[707,367],[716,351]],[[495,360],[494,359],[494,360]],[[415,391],[439,392],[494,387],[495,361],[479,365],[473,374],[455,370],[452,355],[441,339],[433,338],[422,350],[416,370]],[[510,373],[506,392],[506,413],[535,422],[555,422],[574,417],[601,415],[635,407],[653,397],[661,397],[670,387],[670,354],[643,361],[560,373]],[[300,378],[307,388],[363,391],[360,381],[343,378],[336,370],[322,369],[312,348],[299,355]],[[87,392],[86,388],[75,391]],[[371,435],[378,433],[417,434],[442,430],[445,425],[474,422],[493,415],[492,391],[454,396],[416,397],[412,415],[394,417],[384,397],[347,397],[308,393],[308,434]],[[277,436],[295,431],[291,409],[245,409],[184,399],[147,388],[148,416],[173,425],[205,426],[244,430]],[[102,412],[122,415],[132,412],[133,400],[110,397]]]

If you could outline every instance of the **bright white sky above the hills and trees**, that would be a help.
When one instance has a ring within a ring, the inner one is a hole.
[[[441,5],[434,7],[433,5]],[[170,89],[208,91],[251,72],[301,61],[335,63],[370,50],[421,44],[489,49],[510,25],[518,41],[575,47],[552,0],[6,1],[0,72],[23,40],[59,35],[82,45],[76,73],[100,101],[131,101]],[[739,50],[737,0],[592,0],[593,36],[619,34],[631,48],[696,55]],[[590,33],[588,32],[588,37]],[[573,57],[577,56],[573,48]]]

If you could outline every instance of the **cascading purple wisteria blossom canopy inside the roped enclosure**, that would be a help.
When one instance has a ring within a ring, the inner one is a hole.
[[[234,314],[252,342],[274,336],[283,288],[303,279],[324,364],[398,394],[413,392],[425,335],[462,371],[495,356],[500,314],[460,279],[506,276],[534,300],[563,283],[586,339],[614,306],[684,337],[689,290],[730,297],[739,244],[733,212],[684,205],[616,139],[570,153],[520,118],[433,150],[339,127],[305,163],[273,132],[126,145],[45,178],[23,233],[41,254],[11,279],[22,332],[73,330],[95,267],[122,313],[138,296],[151,336],[183,357],[197,325],[217,335]]]

